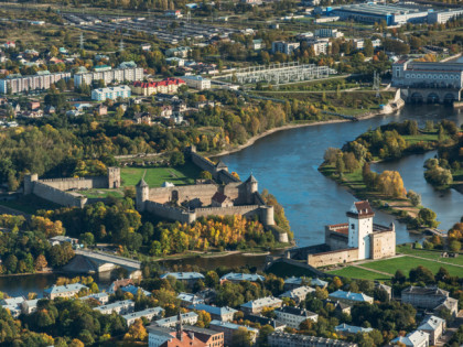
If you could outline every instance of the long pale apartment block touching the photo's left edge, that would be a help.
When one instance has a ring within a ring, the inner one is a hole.
[[[60,79],[68,80],[71,73],[37,72],[36,75],[21,76],[10,75],[7,78],[0,79],[0,94],[20,94],[24,91],[40,91],[47,90]]]

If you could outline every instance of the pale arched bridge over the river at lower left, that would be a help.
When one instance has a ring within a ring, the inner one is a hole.
[[[95,272],[106,272],[112,271],[117,268],[126,269],[130,274],[131,278],[139,278],[141,276],[141,261],[119,257],[116,254],[108,254],[99,251],[90,251],[90,250],[82,250],[77,249],[75,251],[76,256],[80,258],[85,258],[89,260],[91,265],[94,265]],[[78,258],[78,257],[76,257]]]

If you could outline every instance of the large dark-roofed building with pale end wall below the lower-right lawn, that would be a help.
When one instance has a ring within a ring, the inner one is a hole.
[[[435,286],[409,286],[401,293],[402,303],[417,308],[439,311],[448,308],[453,315],[459,310],[459,301],[450,297],[449,292]]]

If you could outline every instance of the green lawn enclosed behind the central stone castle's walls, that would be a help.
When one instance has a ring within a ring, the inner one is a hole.
[[[164,182],[174,185],[194,184],[201,170],[193,163],[176,167],[123,167],[120,170],[122,186],[134,186],[144,175],[150,187],[160,187]]]

